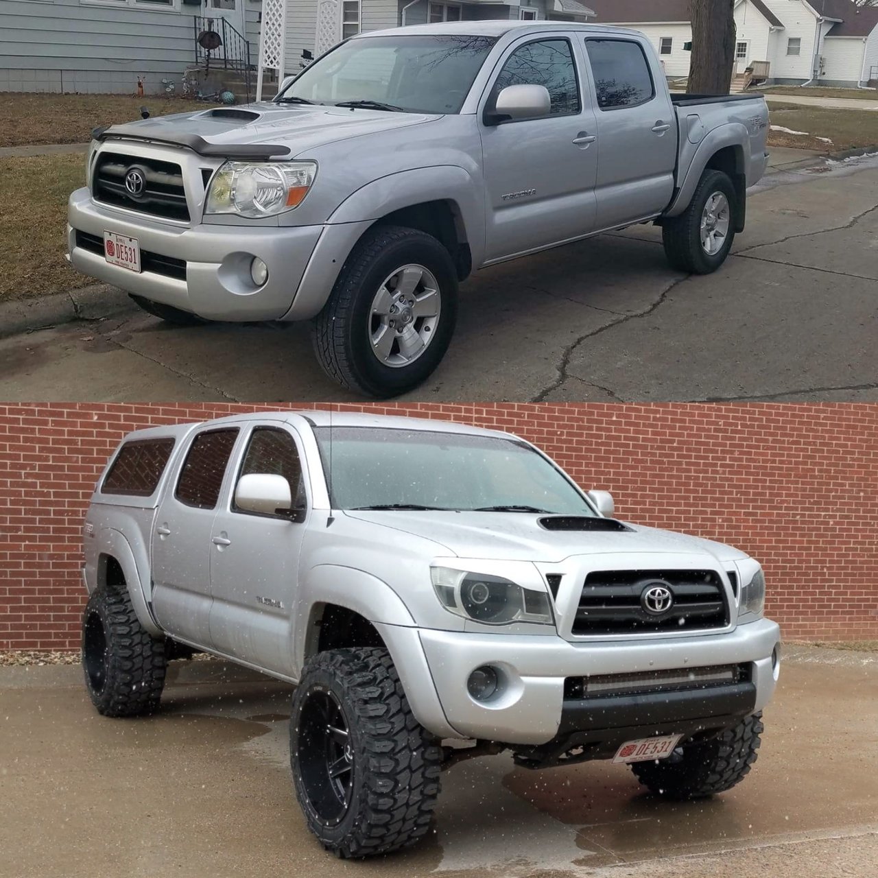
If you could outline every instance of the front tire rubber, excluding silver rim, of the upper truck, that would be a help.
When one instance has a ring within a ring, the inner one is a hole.
[[[401,266],[427,268],[439,286],[441,310],[432,340],[421,356],[392,368],[372,353],[371,305],[385,278]],[[351,251],[323,310],[313,321],[314,353],[342,387],[386,399],[414,390],[442,361],[457,321],[457,271],[451,255],[432,235],[399,226],[369,229]]]

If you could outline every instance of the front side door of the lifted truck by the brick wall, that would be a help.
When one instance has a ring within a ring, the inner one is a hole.
[[[291,608],[299,577],[306,512],[298,521],[236,507],[238,479],[281,475],[294,508],[307,509],[306,474],[291,428],[256,424],[242,437],[227,496],[211,534],[211,637],[214,647],[250,664],[292,673]]]

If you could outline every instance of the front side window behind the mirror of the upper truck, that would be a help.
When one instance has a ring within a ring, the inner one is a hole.
[[[540,40],[515,49],[497,77],[492,104],[508,85],[543,85],[551,97],[551,114],[579,112],[579,84],[567,40]]]

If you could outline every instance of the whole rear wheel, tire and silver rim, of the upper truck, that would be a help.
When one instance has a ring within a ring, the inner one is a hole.
[[[737,202],[727,174],[704,172],[686,212],[662,225],[665,255],[673,268],[711,274],[725,262],[735,241]]]

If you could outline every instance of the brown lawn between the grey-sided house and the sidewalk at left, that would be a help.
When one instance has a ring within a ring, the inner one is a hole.
[[[140,107],[153,116],[206,110],[211,104],[182,97],[133,95],[0,94],[0,147],[44,143],[85,143],[91,129],[140,119]]]

